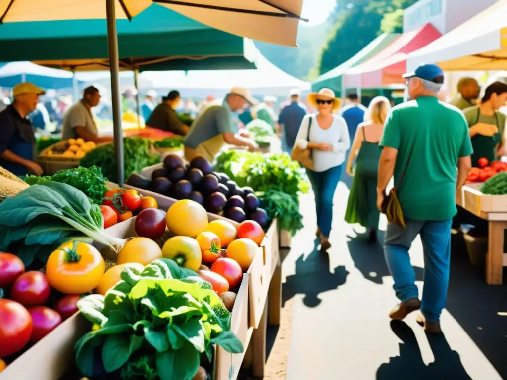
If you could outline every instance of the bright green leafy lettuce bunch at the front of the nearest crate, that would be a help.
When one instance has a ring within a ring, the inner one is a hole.
[[[243,352],[219,296],[192,281],[195,272],[177,267],[169,259],[155,260],[140,274],[124,271],[105,297],[79,300],[80,312],[97,327],[75,346],[83,374],[93,375],[97,348],[106,371],[121,368],[123,379],[190,380],[211,345]]]

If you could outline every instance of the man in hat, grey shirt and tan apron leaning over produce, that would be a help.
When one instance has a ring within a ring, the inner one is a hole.
[[[246,106],[255,104],[257,101],[250,92],[241,87],[232,88],[223,102],[213,101],[207,104],[183,140],[187,161],[203,156],[213,162],[225,144],[259,148],[255,141],[237,133],[231,118],[232,112],[242,111]]]

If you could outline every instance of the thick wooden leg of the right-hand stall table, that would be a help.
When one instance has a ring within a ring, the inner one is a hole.
[[[489,221],[488,253],[486,254],[486,282],[488,284],[502,283],[504,229],[504,221]]]

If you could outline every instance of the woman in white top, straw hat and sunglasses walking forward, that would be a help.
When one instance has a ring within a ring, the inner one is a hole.
[[[317,109],[314,115],[304,117],[296,137],[302,149],[312,149],[314,170],[307,170],[315,194],[317,236],[320,249],[331,247],[329,235],[333,221],[333,196],[342,173],[342,164],[350,148],[350,137],[345,120],[334,113],[340,108],[340,99],[327,88],[308,95],[309,103]]]

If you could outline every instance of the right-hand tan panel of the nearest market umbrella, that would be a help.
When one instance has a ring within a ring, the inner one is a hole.
[[[303,0],[153,0],[226,32],[277,45],[296,46]],[[317,5],[315,5],[317,6]]]

